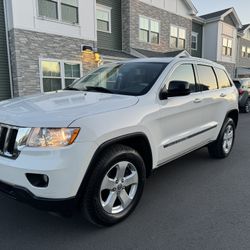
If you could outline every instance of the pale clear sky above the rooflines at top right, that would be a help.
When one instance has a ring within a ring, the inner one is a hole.
[[[234,7],[242,24],[250,23],[250,0],[192,0],[198,15]]]

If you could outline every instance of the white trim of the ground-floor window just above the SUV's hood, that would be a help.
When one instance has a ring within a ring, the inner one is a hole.
[[[60,64],[60,72],[61,72],[60,77],[57,77],[57,76],[44,77],[43,76],[43,70],[42,70],[42,62],[43,61],[59,62],[59,64]],[[39,76],[40,76],[40,89],[41,89],[41,93],[45,93],[44,92],[44,88],[43,88],[43,79],[44,78],[48,78],[48,79],[61,79],[62,89],[65,88],[65,79],[77,79],[77,78],[65,77],[65,71],[64,71],[64,64],[65,63],[79,64],[80,65],[80,78],[83,76],[83,67],[82,67],[82,62],[81,61],[58,60],[58,59],[53,59],[53,58],[39,58]]]

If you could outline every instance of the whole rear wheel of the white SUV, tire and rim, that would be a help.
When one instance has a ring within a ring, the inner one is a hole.
[[[227,118],[220,131],[218,139],[208,146],[208,151],[213,158],[226,158],[229,156],[235,138],[235,124],[231,118]]]

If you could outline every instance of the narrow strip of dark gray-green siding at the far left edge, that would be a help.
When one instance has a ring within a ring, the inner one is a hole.
[[[0,101],[10,98],[10,78],[3,0],[0,0]]]

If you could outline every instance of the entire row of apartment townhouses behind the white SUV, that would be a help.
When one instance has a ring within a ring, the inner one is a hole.
[[[232,76],[250,68],[250,26],[233,8],[198,17],[190,0],[0,0],[0,18],[0,99],[136,57],[191,54]]]

